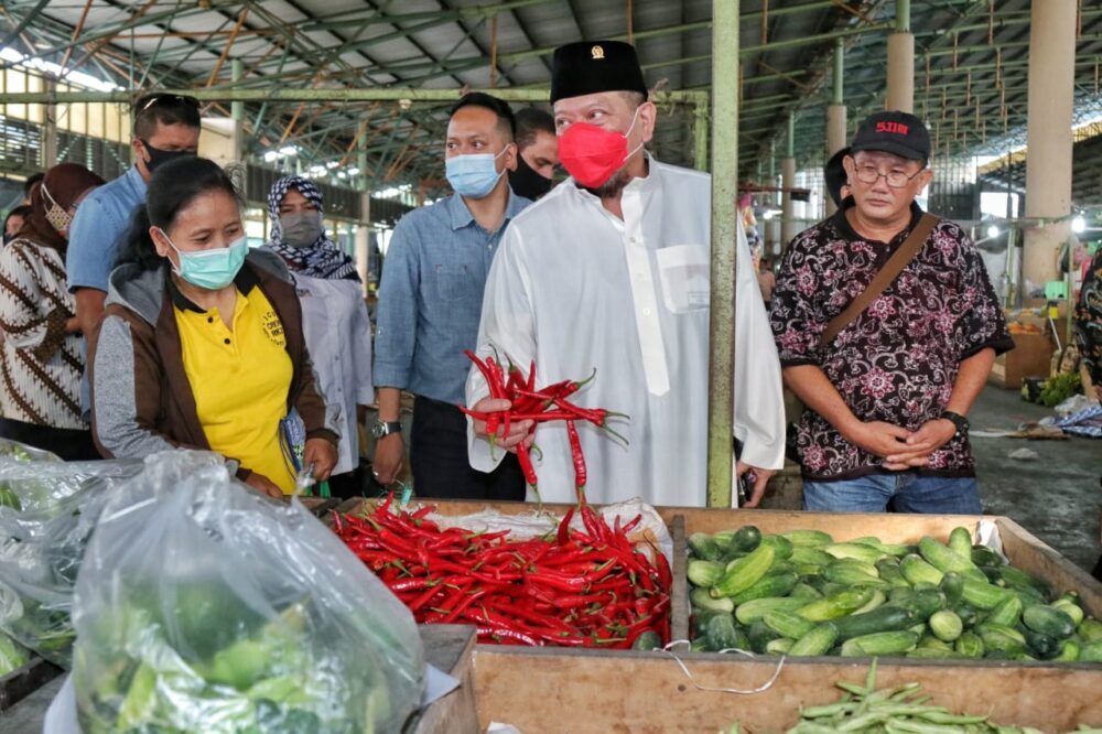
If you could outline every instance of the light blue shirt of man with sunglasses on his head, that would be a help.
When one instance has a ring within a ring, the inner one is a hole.
[[[145,201],[145,181],[138,173],[138,166],[131,166],[80,202],[69,227],[65,256],[71,292],[78,288],[107,292],[107,280],[119,253],[119,240],[130,226],[134,209]]]

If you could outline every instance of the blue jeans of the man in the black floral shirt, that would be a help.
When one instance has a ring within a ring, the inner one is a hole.
[[[892,499],[899,512],[983,514],[975,477],[919,476],[905,472],[803,483],[803,509],[817,512],[883,512]]]

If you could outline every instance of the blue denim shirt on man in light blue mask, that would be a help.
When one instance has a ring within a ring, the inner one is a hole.
[[[506,226],[529,204],[510,191],[505,220],[493,234],[457,194],[401,218],[379,285],[377,387],[463,402],[471,367],[463,350],[474,349],[478,339],[489,266]]]

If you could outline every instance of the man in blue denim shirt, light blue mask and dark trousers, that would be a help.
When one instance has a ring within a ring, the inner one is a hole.
[[[388,485],[401,473],[401,391],[415,397],[410,435],[413,486],[421,497],[523,499],[510,454],[490,474],[471,468],[464,399],[482,316],[483,289],[501,234],[530,202],[509,188],[517,168],[509,106],[473,93],[452,110],[444,145],[455,191],[410,212],[390,240],[379,287],[374,378],[379,421],[374,473]]]

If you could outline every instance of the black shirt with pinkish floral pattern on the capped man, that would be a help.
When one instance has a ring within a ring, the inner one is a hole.
[[[911,431],[944,410],[962,360],[986,347],[1014,348],[979,250],[948,220],[864,313],[819,347],[827,324],[865,290],[921,215],[912,204],[910,225],[887,244],[857,235],[844,211],[807,229],[785,253],[771,309],[782,366],[818,366],[857,418]],[[806,410],[798,428],[804,478],[888,473],[814,411]],[[951,440],[918,473],[974,476],[968,439]]]

